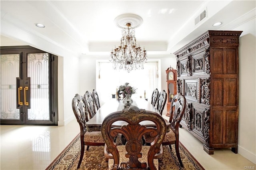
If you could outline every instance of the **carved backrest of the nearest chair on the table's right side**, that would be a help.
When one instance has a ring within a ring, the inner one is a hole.
[[[171,124],[171,129],[174,133],[179,132],[179,125],[180,121],[184,115],[186,109],[186,98],[181,94],[178,93],[174,95],[171,102],[170,108],[170,118],[169,122]]]

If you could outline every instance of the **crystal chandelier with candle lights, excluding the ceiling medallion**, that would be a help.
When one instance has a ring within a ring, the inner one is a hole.
[[[128,72],[133,69],[144,69],[144,63],[148,59],[146,50],[142,50],[137,44],[131,24],[127,23],[126,26],[127,28],[122,30],[120,46],[112,49],[109,61],[113,62],[114,69],[124,69]]]

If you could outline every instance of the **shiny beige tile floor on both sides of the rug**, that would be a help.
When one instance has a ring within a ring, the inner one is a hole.
[[[44,170],[79,133],[79,126],[74,119],[63,127],[1,125],[0,132],[1,170]],[[183,128],[180,128],[180,141],[206,170],[256,167],[229,149],[215,150],[214,155],[208,155],[202,143]]]

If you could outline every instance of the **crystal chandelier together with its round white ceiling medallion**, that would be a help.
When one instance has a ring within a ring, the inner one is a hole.
[[[142,24],[142,18],[134,14],[123,14],[118,16],[115,22],[124,30],[122,30],[120,46],[115,46],[110,52],[109,61],[113,62],[113,68],[124,69],[128,72],[133,69],[143,69],[144,63],[147,62],[147,53],[145,47],[142,50],[137,44],[134,31],[134,28]]]

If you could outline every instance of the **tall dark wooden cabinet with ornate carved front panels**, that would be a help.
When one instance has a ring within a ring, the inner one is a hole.
[[[186,97],[181,125],[204,143],[204,150],[238,142],[238,46],[242,31],[209,30],[174,54],[177,92]]]

